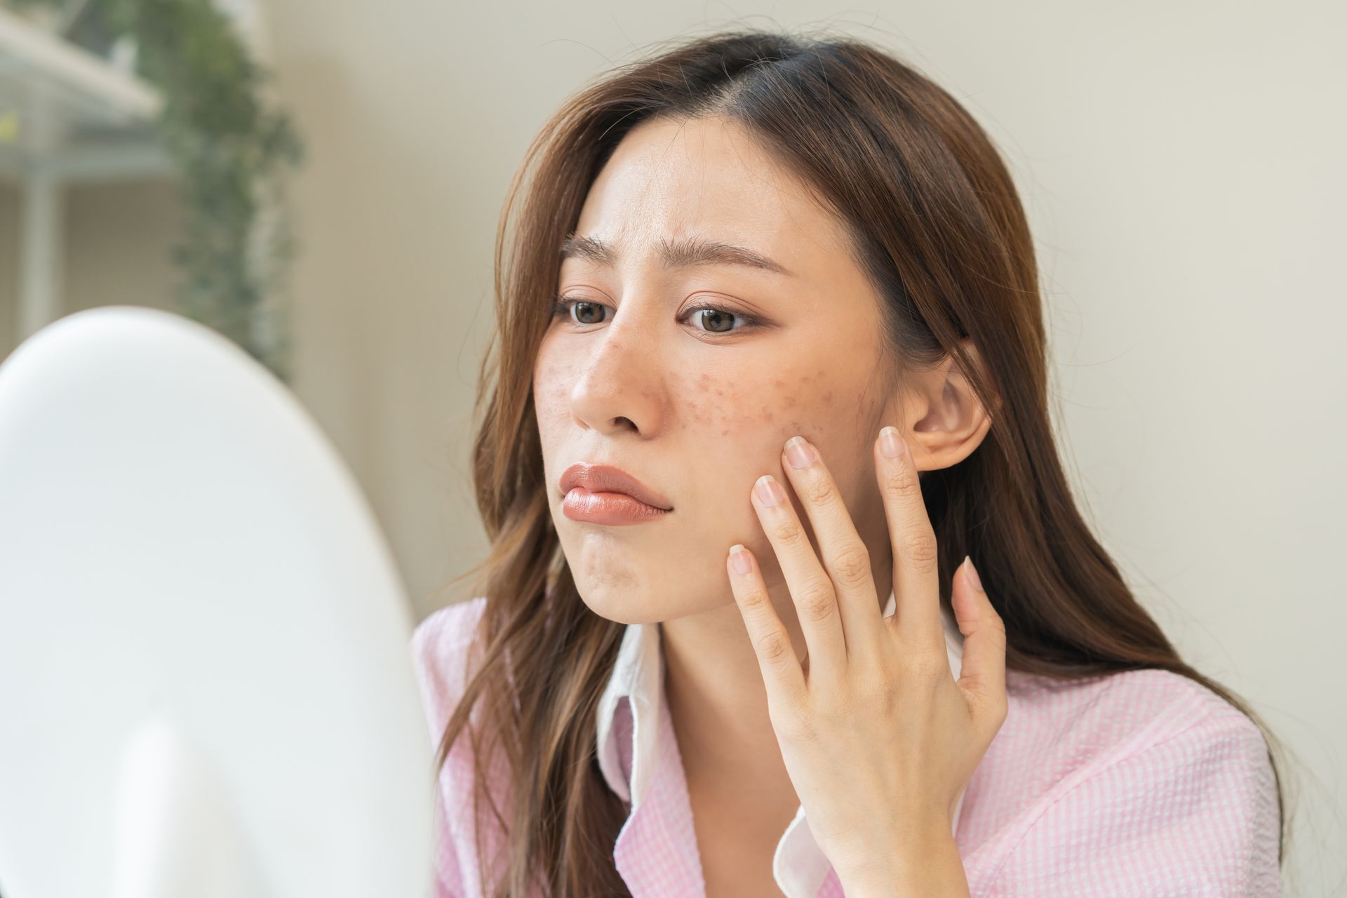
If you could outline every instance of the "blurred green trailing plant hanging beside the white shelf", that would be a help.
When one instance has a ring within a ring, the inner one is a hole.
[[[63,0],[11,1],[71,9]],[[264,93],[269,73],[210,0],[89,0],[74,9],[73,39],[131,38],[137,74],[163,96],[156,128],[182,176],[186,214],[174,248],[185,273],[179,310],[288,382],[290,316],[279,296],[295,238],[286,180],[303,143]]]

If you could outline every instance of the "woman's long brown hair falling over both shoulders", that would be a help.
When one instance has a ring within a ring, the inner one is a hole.
[[[498,222],[497,333],[482,359],[473,446],[490,552],[467,572],[486,603],[474,669],[436,755],[442,767],[466,727],[478,844],[485,825],[506,833],[505,875],[488,894],[523,898],[533,883],[556,898],[629,894],[612,858],[626,808],[594,757],[597,703],[624,625],[591,613],[570,576],[531,385],[560,242],[617,143],[653,116],[744,125],[845,222],[882,303],[894,376],[952,354],[991,412],[991,431],[967,459],[923,473],[942,602],[971,555],[1006,623],[1009,669],[1068,679],[1162,668],[1230,701],[1274,743],[1242,700],[1177,656],[1076,509],[1049,421],[1029,226],[977,121],[912,66],[857,39],[756,30],[682,39],[570,98],[529,145]],[[486,788],[494,751],[509,770],[508,800]],[[1273,769],[1284,859],[1282,775]]]

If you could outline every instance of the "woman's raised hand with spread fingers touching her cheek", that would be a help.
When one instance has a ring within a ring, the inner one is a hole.
[[[881,617],[869,552],[818,450],[800,438],[785,447],[783,467],[823,560],[770,475],[754,485],[753,506],[804,630],[803,664],[752,553],[734,545],[726,565],[810,829],[843,885],[882,880],[933,855],[956,859],[955,804],[1006,716],[1005,626],[971,565],[960,565],[951,598],[964,635],[955,683],[935,533],[912,454],[894,428],[884,428],[874,446],[893,548],[889,618]],[[962,866],[958,872],[962,879]]]

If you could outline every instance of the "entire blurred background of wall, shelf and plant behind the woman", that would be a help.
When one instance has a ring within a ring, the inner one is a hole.
[[[509,178],[586,79],[730,26],[874,40],[998,141],[1078,495],[1297,753],[1299,894],[1347,894],[1340,3],[0,0],[0,358],[94,306],[210,323],[330,435],[416,617],[467,598]]]

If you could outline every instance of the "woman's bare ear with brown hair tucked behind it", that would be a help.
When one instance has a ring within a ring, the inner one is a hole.
[[[974,364],[981,364],[973,342],[964,338],[960,343]],[[902,436],[912,447],[919,471],[958,464],[978,448],[991,429],[991,416],[978,401],[973,384],[954,355],[947,355],[932,370],[909,372],[902,392],[907,415]]]

